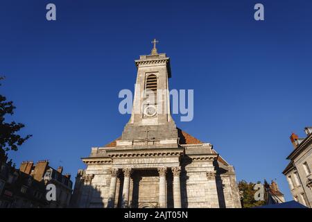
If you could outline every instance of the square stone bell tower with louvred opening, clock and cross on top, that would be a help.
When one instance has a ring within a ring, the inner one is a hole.
[[[157,42],[153,40],[150,55],[135,60],[137,81],[132,114],[121,139],[177,138],[170,111],[170,59],[166,53],[157,53]]]

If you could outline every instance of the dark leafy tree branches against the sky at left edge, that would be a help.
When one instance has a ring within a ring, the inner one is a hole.
[[[0,76],[0,80],[3,79],[4,77]],[[6,97],[0,94],[0,148],[3,151],[17,151],[18,146],[21,146],[27,139],[32,137],[32,135],[21,137],[21,135],[17,134],[21,128],[24,128],[23,123],[6,122],[6,116],[12,116],[14,110],[13,102],[6,101]]]

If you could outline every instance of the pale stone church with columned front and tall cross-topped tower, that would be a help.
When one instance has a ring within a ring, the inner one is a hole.
[[[150,55],[135,60],[130,120],[121,137],[82,158],[87,167],[78,171],[72,207],[241,207],[234,167],[177,128],[169,94],[146,101],[146,92],[168,92],[171,78],[170,59],[153,43]]]

